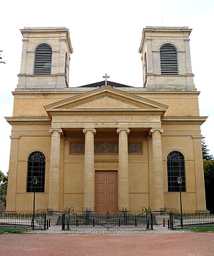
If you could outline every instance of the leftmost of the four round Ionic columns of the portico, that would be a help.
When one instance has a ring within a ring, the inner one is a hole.
[[[51,157],[49,164],[49,206],[53,212],[60,211],[60,133],[62,129],[49,129],[51,135]]]

